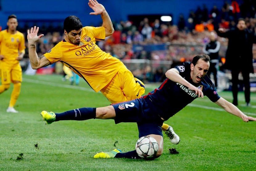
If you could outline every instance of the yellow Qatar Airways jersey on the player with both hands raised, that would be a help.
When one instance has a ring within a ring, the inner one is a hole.
[[[63,40],[44,56],[51,63],[65,63],[98,92],[112,80],[124,64],[102,51],[96,45],[96,40],[105,40],[105,28],[86,26],[82,28],[79,45]]]

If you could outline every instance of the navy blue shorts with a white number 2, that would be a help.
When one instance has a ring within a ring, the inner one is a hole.
[[[152,104],[151,104],[152,105]],[[115,109],[115,123],[136,122],[138,125],[139,137],[149,134],[163,136],[161,126],[163,120],[152,106],[143,98],[112,104]]]

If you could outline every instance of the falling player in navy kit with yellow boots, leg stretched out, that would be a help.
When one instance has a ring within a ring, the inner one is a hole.
[[[42,111],[47,124],[61,120],[114,119],[120,122],[136,122],[139,137],[151,136],[158,142],[158,152],[152,159],[163,153],[163,134],[161,125],[198,97],[206,95],[227,112],[242,118],[243,121],[256,121],[255,117],[245,115],[232,103],[220,97],[206,75],[210,66],[210,57],[206,54],[196,55],[192,62],[184,62],[168,70],[167,79],[150,93],[131,101],[111,104],[105,107],[84,107],[63,113]],[[114,149],[108,153],[97,153],[94,158],[133,158],[140,159],[136,150],[122,153]]]

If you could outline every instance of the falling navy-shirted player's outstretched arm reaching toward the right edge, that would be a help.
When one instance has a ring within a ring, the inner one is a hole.
[[[239,110],[235,105],[232,103],[226,101],[224,98],[220,98],[215,102],[217,105],[225,109],[228,113],[231,113],[235,116],[238,116],[243,119],[243,121],[248,122],[248,121],[256,121],[255,117],[250,117],[242,113],[241,110]]]

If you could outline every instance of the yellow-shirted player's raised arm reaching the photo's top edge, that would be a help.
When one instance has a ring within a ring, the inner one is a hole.
[[[105,7],[99,4],[96,0],[89,0],[88,5],[94,11],[94,12],[91,12],[90,15],[101,14],[102,27],[105,28],[105,37],[112,35],[114,33],[114,27],[109,17],[109,14],[105,10]]]

